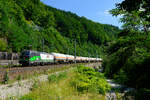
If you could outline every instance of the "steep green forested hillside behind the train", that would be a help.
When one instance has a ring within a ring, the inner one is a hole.
[[[24,49],[74,54],[102,55],[120,30],[62,11],[40,0],[0,0],[0,51]]]

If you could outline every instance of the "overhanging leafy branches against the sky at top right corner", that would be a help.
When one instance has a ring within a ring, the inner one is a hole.
[[[123,28],[139,30],[148,34],[150,31],[150,1],[149,0],[125,0],[116,5],[110,12],[114,16],[121,15]]]

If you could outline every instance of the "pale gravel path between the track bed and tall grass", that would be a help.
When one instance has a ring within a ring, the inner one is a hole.
[[[69,71],[70,69],[67,69],[64,71]],[[63,72],[63,71],[55,72],[55,74],[60,73],[60,72]],[[44,82],[47,80],[48,80],[48,75],[41,75],[38,77],[33,77],[31,79],[17,81],[12,84],[0,85],[0,99],[6,100],[7,98],[20,97],[25,94],[28,94],[31,91],[31,88],[33,87],[33,85],[37,81]]]

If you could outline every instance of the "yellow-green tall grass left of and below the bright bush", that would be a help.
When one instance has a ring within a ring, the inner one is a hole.
[[[19,100],[105,100],[105,97],[95,93],[80,93],[70,85],[75,71],[62,72],[48,76],[48,82],[41,82],[38,87]]]

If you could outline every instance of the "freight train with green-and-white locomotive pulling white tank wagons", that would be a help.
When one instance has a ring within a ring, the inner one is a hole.
[[[80,57],[62,53],[46,53],[33,50],[21,52],[19,63],[23,66],[30,65],[48,65],[56,63],[84,63],[84,62],[101,62],[101,58]]]

